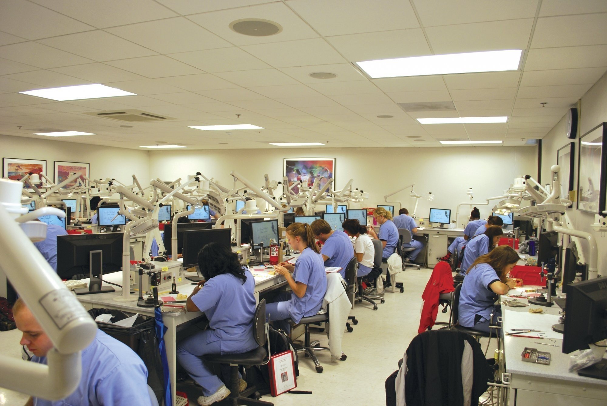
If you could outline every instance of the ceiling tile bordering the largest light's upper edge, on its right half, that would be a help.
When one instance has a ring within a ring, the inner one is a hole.
[[[533,19],[476,22],[426,28],[432,50],[440,54],[526,49]]]

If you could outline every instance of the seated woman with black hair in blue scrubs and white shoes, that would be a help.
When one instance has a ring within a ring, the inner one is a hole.
[[[198,267],[205,277],[188,297],[186,310],[204,311],[209,329],[189,336],[177,345],[177,360],[202,386],[198,404],[225,399],[230,391],[200,358],[205,354],[246,353],[257,348],[253,337],[256,301],[251,272],[229,247],[211,242],[198,254]],[[246,382],[240,379],[240,388]]]

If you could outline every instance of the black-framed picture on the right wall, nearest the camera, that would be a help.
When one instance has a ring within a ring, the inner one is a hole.
[[[607,123],[603,122],[584,135],[578,144],[577,210],[599,214],[605,210],[607,181]]]

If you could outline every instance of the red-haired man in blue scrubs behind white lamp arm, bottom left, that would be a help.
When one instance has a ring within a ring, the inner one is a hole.
[[[23,336],[19,344],[26,345],[34,356],[32,362],[47,364],[46,355],[53,343],[42,330],[32,312],[21,299],[13,306],[17,328]],[[131,348],[101,330],[82,351],[82,375],[76,390],[60,401],[31,398],[28,405],[151,405],[148,393],[148,368]],[[32,382],[32,385],[35,385]]]

